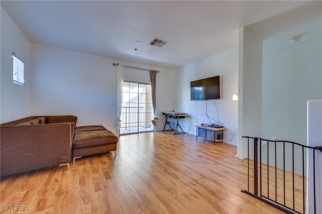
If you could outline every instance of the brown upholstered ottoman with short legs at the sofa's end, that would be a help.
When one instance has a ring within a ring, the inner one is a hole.
[[[73,164],[76,158],[113,152],[116,157],[118,137],[103,126],[81,126],[74,130],[72,142]]]

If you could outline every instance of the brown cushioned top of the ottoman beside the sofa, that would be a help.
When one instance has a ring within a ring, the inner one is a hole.
[[[108,130],[78,132],[73,139],[73,149],[115,144],[118,137]]]

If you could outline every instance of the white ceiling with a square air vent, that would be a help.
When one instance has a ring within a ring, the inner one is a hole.
[[[307,10],[300,9],[309,4],[312,2],[1,1],[30,42],[169,69],[237,47],[240,27],[285,12],[296,11],[305,17]],[[259,34],[267,36],[267,27],[254,26],[254,31],[259,29]],[[148,43],[154,37],[169,42],[163,47],[151,46]]]

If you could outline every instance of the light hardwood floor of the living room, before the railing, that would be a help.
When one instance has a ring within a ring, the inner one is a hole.
[[[35,157],[37,158],[37,157]],[[194,135],[150,132],[121,136],[112,153],[75,165],[1,179],[1,212],[20,213],[282,213],[241,192],[247,160],[236,147]]]

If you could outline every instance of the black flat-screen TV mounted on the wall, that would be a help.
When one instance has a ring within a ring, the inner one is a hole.
[[[219,76],[190,82],[191,100],[220,99]]]

